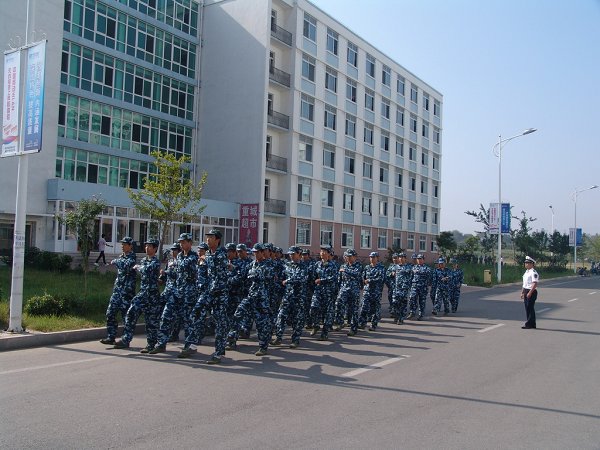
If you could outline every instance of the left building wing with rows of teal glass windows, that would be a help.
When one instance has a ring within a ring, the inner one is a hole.
[[[196,157],[202,7],[195,0],[18,1],[2,15],[0,39],[24,44],[47,39],[43,148],[29,158],[26,239],[29,245],[73,252],[76,237],[57,215],[74,201],[101,196],[110,206],[98,221],[119,252],[131,235],[143,242],[141,217],[125,188],[150,175],[152,150]],[[2,62],[0,62],[2,64]],[[3,72],[3,71],[2,71]],[[0,244],[12,246],[16,158],[0,166]],[[177,223],[172,234],[219,226],[238,236],[235,202],[207,199],[201,223]]]

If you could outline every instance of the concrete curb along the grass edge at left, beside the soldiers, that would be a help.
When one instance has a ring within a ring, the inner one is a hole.
[[[134,334],[143,334],[146,326],[141,323],[135,326]],[[118,334],[123,332],[119,327]],[[52,333],[0,333],[0,352],[21,350],[33,347],[47,347],[50,345],[70,344],[74,342],[95,341],[106,337],[106,327],[87,328],[84,330],[55,331]]]

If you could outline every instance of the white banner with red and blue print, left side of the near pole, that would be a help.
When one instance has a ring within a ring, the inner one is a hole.
[[[19,151],[19,88],[21,52],[4,55],[4,97],[2,101],[2,157]]]

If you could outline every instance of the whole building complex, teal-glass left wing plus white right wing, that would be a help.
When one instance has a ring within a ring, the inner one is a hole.
[[[22,45],[26,14],[26,1],[5,11],[0,39]],[[56,214],[92,195],[110,204],[98,234],[144,240],[151,220],[125,188],[161,149],[208,173],[205,216],[173,235],[218,227],[243,241],[247,204],[258,240],[282,247],[434,250],[442,95],[310,2],[30,0],[29,21],[29,41],[48,40],[30,245],[74,251]],[[16,172],[4,158],[3,192]],[[0,198],[2,248],[14,209]]]

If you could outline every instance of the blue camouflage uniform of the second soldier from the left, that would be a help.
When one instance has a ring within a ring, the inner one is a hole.
[[[152,349],[158,342],[158,328],[160,322],[160,292],[158,290],[158,276],[160,274],[160,261],[156,255],[146,256],[136,266],[141,276],[140,291],[133,297],[131,306],[125,316],[125,330],[121,342],[129,345],[133,339],[135,325],[142,313],[146,323],[147,349]]]

